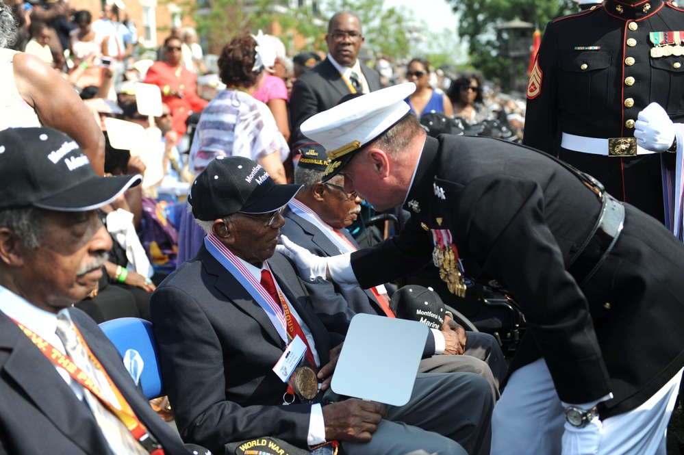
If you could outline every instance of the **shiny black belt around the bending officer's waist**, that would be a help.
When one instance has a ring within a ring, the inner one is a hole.
[[[600,196],[603,207],[594,229],[566,268],[580,286],[589,281],[603,264],[624,227],[624,205],[610,194]]]

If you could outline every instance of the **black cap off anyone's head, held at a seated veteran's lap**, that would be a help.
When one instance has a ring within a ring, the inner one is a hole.
[[[431,287],[400,287],[392,294],[390,308],[400,319],[422,322],[437,329],[444,324],[444,301]]]

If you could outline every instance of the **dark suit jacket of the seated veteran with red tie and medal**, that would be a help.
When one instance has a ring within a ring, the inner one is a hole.
[[[292,265],[268,260],[283,293],[314,336],[321,365],[332,340]],[[266,312],[203,245],[151,300],[164,387],[183,440],[220,454],[224,445],[268,435],[307,447],[311,406],[283,406],[273,372],[286,348]]]

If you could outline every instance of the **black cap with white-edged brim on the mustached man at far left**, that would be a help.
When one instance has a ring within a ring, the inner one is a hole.
[[[0,210],[88,211],[112,203],[140,175],[98,177],[68,135],[51,128],[0,131]]]

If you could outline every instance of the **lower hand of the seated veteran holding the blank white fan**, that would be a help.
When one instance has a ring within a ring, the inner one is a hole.
[[[344,400],[323,406],[326,441],[370,441],[378,424],[387,414],[379,403],[364,400]]]

